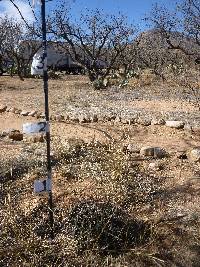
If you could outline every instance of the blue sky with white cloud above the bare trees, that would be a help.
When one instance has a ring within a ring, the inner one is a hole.
[[[39,0],[35,0],[35,2]],[[181,0],[179,0],[180,2]],[[26,4],[27,0],[16,0],[15,3],[19,6],[24,17],[33,21],[30,7]],[[32,0],[31,0],[32,2]],[[122,14],[128,17],[130,23],[140,26],[143,30],[146,28],[146,22],[142,20],[146,14],[151,10],[153,4],[158,3],[160,5],[165,5],[169,9],[175,7],[175,0],[71,0],[71,15],[76,18],[81,12],[86,9],[102,9],[108,14]],[[49,8],[54,9],[58,1],[52,0],[46,4],[47,10]],[[39,10],[39,5],[36,4],[36,10]],[[20,16],[16,9],[12,6],[9,0],[0,0],[0,17],[7,14],[8,16],[19,20]]]

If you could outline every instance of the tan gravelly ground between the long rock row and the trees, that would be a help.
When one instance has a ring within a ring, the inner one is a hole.
[[[51,114],[114,114],[122,117],[184,120],[196,125],[200,112],[190,91],[155,84],[142,88],[112,87],[94,91],[84,76],[66,76],[49,81]],[[14,93],[14,98],[13,98]],[[1,103],[28,110],[43,110],[42,80],[1,77]]]

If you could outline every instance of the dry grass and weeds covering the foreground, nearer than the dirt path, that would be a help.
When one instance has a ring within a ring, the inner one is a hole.
[[[47,200],[33,196],[30,185],[41,165],[30,160],[16,161],[10,176],[9,162],[2,163],[1,266],[199,266],[199,213],[169,209],[194,187],[170,192],[166,178],[117,144],[60,144],[54,155],[55,239],[49,240]],[[143,242],[133,235],[137,229],[136,236],[144,236],[135,222],[151,227]]]

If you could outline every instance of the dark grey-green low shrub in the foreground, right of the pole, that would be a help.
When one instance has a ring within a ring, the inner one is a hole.
[[[68,222],[80,251],[118,255],[150,237],[149,226],[130,219],[110,203],[79,202],[71,209]]]

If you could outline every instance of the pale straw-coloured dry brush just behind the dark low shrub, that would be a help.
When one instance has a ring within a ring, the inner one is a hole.
[[[151,202],[161,190],[159,178],[146,174],[131,154],[116,144],[77,144],[59,149],[57,172],[70,182],[89,179],[94,199],[104,199],[129,208]],[[81,189],[82,190],[82,189]]]

